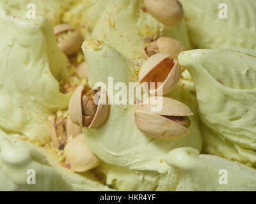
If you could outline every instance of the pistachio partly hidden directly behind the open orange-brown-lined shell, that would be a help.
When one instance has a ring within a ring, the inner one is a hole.
[[[173,59],[177,59],[180,52],[186,50],[186,48],[177,40],[161,36],[157,40],[148,43],[144,50],[148,57],[163,52]]]

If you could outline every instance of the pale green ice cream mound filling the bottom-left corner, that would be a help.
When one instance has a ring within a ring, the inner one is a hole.
[[[27,178],[33,169],[36,184]],[[90,173],[71,173],[56,158],[31,143],[17,140],[0,129],[0,191],[110,191],[92,179]]]

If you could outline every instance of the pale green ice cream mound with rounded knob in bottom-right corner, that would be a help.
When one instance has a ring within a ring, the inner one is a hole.
[[[166,157],[180,174],[176,191],[256,191],[256,170],[221,157],[200,154],[184,147],[172,150]],[[227,170],[227,184],[221,184],[220,170]]]

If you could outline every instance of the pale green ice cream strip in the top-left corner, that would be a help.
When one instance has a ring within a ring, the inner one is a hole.
[[[7,15],[26,18],[31,9],[31,7],[27,8],[30,3],[35,4],[36,15],[42,15],[56,25],[61,22],[63,12],[76,3],[76,0],[0,0],[0,7]]]

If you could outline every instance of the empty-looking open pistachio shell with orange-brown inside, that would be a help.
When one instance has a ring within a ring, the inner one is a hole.
[[[152,55],[144,62],[140,69],[138,79],[143,82],[161,82],[159,87],[155,85],[155,89],[150,89],[150,94],[162,96],[172,91],[175,85],[179,82],[180,66],[176,60],[173,60],[170,55],[157,53]],[[159,91],[163,89],[163,93]]]

